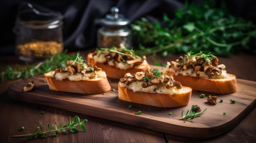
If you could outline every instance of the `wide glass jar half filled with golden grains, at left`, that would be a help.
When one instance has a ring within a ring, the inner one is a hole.
[[[38,61],[63,51],[61,13],[24,3],[20,6],[14,32],[16,54],[24,61]]]

